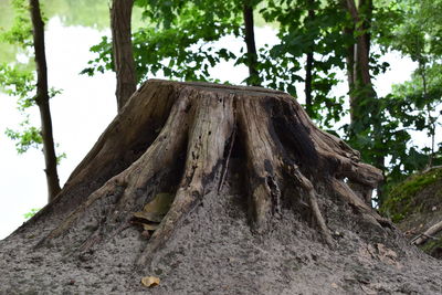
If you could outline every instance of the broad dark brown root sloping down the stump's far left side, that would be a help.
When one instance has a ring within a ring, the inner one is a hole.
[[[115,117],[71,173],[60,194],[65,197],[55,198],[32,218],[33,221],[49,214],[69,214],[112,177],[129,167],[154,143],[178,95],[170,83],[157,82],[154,91],[149,86],[145,83],[134,93],[125,112]]]

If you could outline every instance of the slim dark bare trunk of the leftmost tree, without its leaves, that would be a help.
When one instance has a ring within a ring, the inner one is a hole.
[[[48,181],[48,199],[51,202],[60,192],[59,173],[56,171],[56,156],[52,135],[51,109],[48,93],[48,67],[44,52],[44,23],[40,13],[39,0],[30,0],[30,12],[33,27],[33,41],[36,65],[36,96],[35,102],[40,109],[43,138],[43,154]]]

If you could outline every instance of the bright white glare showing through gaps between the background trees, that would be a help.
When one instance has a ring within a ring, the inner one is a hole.
[[[46,25],[46,59],[50,86],[62,88],[63,94],[51,101],[55,141],[59,151],[67,158],[59,167],[61,185],[80,164],[116,114],[115,76],[112,73],[88,77],[78,75],[92,54],[88,49],[98,43],[103,34],[91,28],[62,27],[57,18]],[[255,28],[256,44],[276,42],[271,28]],[[242,41],[225,38],[222,43],[240,49]],[[409,78],[414,69],[408,59],[399,54],[385,56],[393,67],[376,81],[379,95],[390,91],[390,85]],[[218,65],[212,73],[221,81],[241,83],[248,71],[244,66],[233,67],[233,63]],[[336,89],[345,94],[346,83]],[[299,99],[303,91],[298,88]],[[35,109],[36,112],[36,109]],[[38,126],[39,115],[32,114]],[[23,214],[46,203],[44,161],[40,150],[29,150],[18,155],[14,143],[4,136],[7,127],[14,128],[21,122],[15,110],[15,99],[0,93],[0,239],[9,235],[24,221]]]

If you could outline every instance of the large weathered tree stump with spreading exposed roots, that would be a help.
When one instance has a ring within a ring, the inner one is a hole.
[[[372,190],[381,171],[318,129],[292,96],[261,87],[150,80],[134,93],[56,200],[30,221],[60,222],[38,246],[85,219],[93,231],[78,251],[139,226],[149,236],[136,261],[143,268],[204,196],[223,187],[233,158],[256,234],[290,204],[324,245],[334,247],[322,200],[349,206],[371,226],[390,224],[348,185]]]

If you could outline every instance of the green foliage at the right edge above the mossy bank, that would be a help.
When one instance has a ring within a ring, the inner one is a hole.
[[[442,98],[442,52],[434,42],[442,38],[436,21],[441,4],[440,0],[375,1],[372,40],[381,52],[397,50],[418,63],[411,78],[393,85],[385,97],[372,99],[370,89],[357,89],[361,112],[358,122],[345,126],[350,145],[361,151],[362,159],[385,170],[385,199],[393,193],[390,188],[408,175],[442,164],[442,150],[434,143]],[[388,66],[377,64],[379,57],[371,56],[375,75]],[[413,140],[418,133],[425,133],[433,143],[423,146]],[[378,200],[380,208],[383,201]]]

